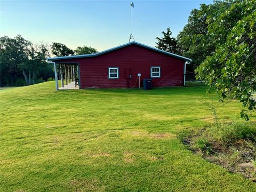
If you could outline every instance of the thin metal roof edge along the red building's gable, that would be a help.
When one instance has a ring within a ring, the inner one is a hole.
[[[183,57],[181,55],[170,53],[170,52],[163,51],[163,50],[159,50],[159,49],[156,49],[155,47],[151,47],[151,46],[148,46],[148,45],[145,45],[145,44],[142,44],[142,43],[138,43],[138,42],[135,42],[135,41],[130,42],[130,43],[125,43],[123,45],[119,45],[119,46],[116,46],[116,47],[113,47],[111,49],[101,51],[101,52],[98,52],[98,53],[83,54],[83,55],[71,55],[71,56],[64,56],[64,57],[53,57],[53,58],[47,58],[47,60],[48,61],[54,61],[54,60],[62,60],[62,59],[78,59],[78,58],[87,58],[87,57],[97,57],[98,55],[105,54],[105,53],[108,53],[108,52],[111,52],[111,51],[115,51],[115,50],[121,49],[121,48],[129,46],[129,45],[138,45],[138,46],[141,46],[141,47],[145,47],[146,49],[157,51],[159,53],[164,53],[166,55],[170,55],[172,57],[179,58],[179,59],[182,59],[182,60],[185,60],[185,61],[188,61],[188,62],[192,61],[191,59]]]

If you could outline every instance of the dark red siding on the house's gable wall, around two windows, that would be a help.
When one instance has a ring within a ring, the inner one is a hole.
[[[78,62],[80,69],[81,88],[85,87],[135,87],[137,74],[150,78],[150,67],[160,66],[161,77],[152,78],[154,87],[182,86],[184,60],[163,53],[148,50],[138,45],[130,45],[97,57],[60,60],[60,62]],[[58,61],[57,61],[58,63]],[[119,67],[119,78],[108,78],[108,67]],[[131,79],[127,79],[130,69]]]

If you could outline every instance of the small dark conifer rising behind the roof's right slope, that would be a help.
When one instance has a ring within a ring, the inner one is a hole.
[[[181,51],[179,49],[177,39],[171,37],[172,31],[170,30],[170,27],[167,28],[166,33],[163,31],[162,34],[164,35],[162,38],[156,37],[158,40],[158,42],[156,42],[157,49],[168,51],[170,53],[180,54]]]

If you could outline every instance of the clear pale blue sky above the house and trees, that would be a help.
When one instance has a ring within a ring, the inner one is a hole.
[[[103,51],[129,41],[132,1],[2,1],[0,35],[93,46]],[[212,1],[133,1],[135,41],[155,46],[167,27],[177,36],[192,9]]]

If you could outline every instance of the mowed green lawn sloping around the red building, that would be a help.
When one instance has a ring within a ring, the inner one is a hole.
[[[255,191],[177,138],[212,123],[205,89],[2,90],[0,191]],[[240,110],[217,107],[221,121]]]

